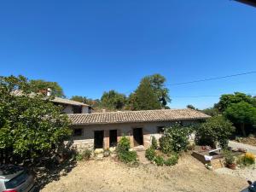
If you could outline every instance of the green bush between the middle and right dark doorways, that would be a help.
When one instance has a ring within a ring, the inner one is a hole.
[[[130,139],[123,136],[117,146],[118,157],[122,162],[135,164],[137,163],[137,153],[136,151],[130,151],[130,148]]]

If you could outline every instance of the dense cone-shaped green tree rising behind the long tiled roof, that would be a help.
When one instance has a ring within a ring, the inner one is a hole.
[[[149,79],[143,79],[137,90],[129,97],[129,108],[131,110],[160,109],[161,103]]]

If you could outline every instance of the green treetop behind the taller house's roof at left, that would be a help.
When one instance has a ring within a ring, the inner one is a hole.
[[[32,91],[37,93],[38,90],[51,89],[52,96],[65,97],[63,90],[57,82],[44,81],[42,79],[30,80]]]

